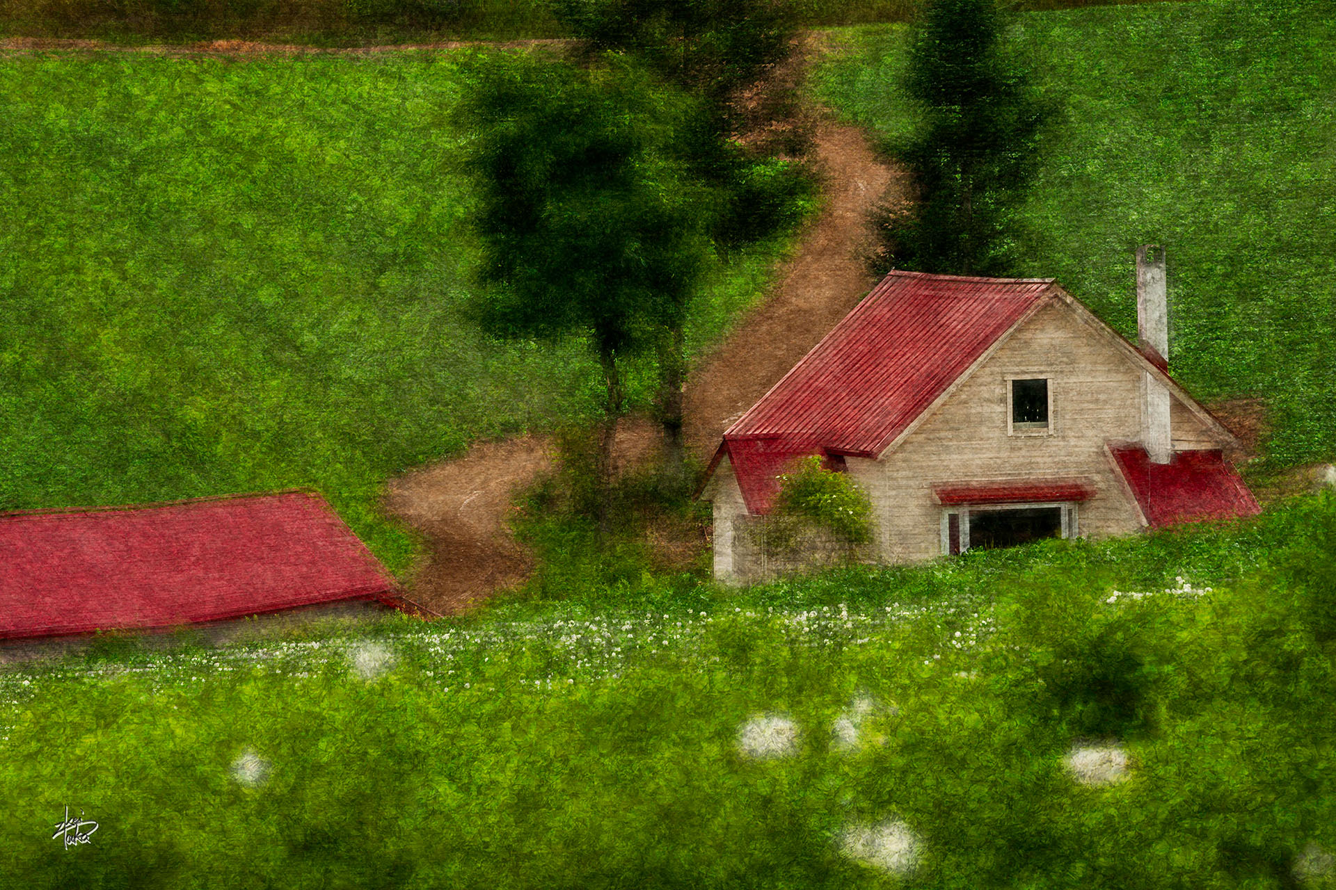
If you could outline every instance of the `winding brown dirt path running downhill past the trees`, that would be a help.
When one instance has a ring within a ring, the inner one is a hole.
[[[859,129],[832,120],[816,129],[816,155],[826,175],[824,212],[804,232],[772,294],[688,376],[684,434],[700,459],[874,284],[858,259],[864,220],[895,188],[895,177]],[[649,454],[657,436],[643,419],[624,427],[617,444],[623,464]],[[454,614],[522,580],[532,559],[506,532],[505,518],[513,492],[550,467],[550,443],[525,438],[480,444],[462,458],[391,480],[386,512],[430,542],[432,552],[411,582],[413,596]]]

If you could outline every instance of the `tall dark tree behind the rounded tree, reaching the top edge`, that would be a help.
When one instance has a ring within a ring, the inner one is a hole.
[[[792,0],[550,0],[550,5],[577,37],[576,55],[584,64],[621,53],[697,101],[696,113],[680,120],[675,151],[711,195],[707,232],[721,254],[798,221],[812,185],[792,157],[806,152],[808,136],[800,127],[770,125],[795,119],[796,83],[770,77],[792,52]],[[684,322],[681,316],[665,330],[659,350],[657,411],[679,479],[684,479]]]

